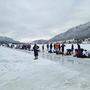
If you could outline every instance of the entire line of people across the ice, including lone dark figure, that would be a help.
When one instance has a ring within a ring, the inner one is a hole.
[[[3,45],[2,45],[3,46]],[[21,50],[28,50],[28,51],[34,51],[35,60],[38,59],[38,53],[40,51],[39,46],[37,44],[29,44],[29,43],[23,43],[23,44],[5,44],[4,46],[15,48],[15,49],[21,49]],[[32,47],[33,46],[33,47]],[[77,44],[77,49],[74,48],[74,44],[71,44],[71,48],[68,48],[65,50],[66,45],[64,43],[50,43],[47,45],[42,44],[42,52],[46,51],[48,53],[56,53],[63,55],[73,55],[74,57],[80,57],[80,58],[90,58],[90,52],[87,50],[84,50],[81,48],[80,44]]]

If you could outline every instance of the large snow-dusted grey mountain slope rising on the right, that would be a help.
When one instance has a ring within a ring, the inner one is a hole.
[[[90,22],[76,26],[64,33],[58,34],[52,39],[50,39],[50,41],[63,41],[70,39],[85,39],[85,38],[90,38]]]

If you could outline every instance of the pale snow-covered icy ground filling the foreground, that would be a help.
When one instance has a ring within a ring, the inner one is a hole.
[[[0,90],[90,90],[90,59],[44,54],[0,47]]]

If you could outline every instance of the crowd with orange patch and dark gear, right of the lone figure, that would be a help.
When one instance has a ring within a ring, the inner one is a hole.
[[[77,49],[74,48],[74,44],[71,44],[71,48],[65,50],[65,44],[54,43],[47,44],[47,51],[49,53],[56,53],[61,55],[73,55],[78,58],[90,58],[90,51],[81,48],[80,44],[77,43]]]

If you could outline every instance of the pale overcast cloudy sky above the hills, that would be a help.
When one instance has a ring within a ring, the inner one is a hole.
[[[90,0],[0,0],[0,36],[50,39],[90,21]]]

